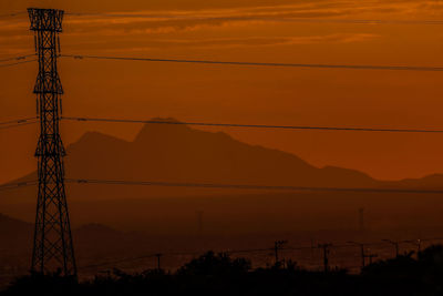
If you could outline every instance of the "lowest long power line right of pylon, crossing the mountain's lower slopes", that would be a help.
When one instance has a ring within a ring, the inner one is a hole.
[[[216,183],[178,183],[158,181],[122,181],[122,180],[86,180],[66,178],[68,183],[105,184],[105,185],[136,185],[162,187],[199,187],[199,188],[235,188],[259,191],[302,191],[302,192],[360,192],[360,193],[408,193],[408,194],[443,194],[443,190],[402,190],[402,188],[364,188],[364,187],[308,187],[308,186],[275,186],[246,184],[216,184]]]

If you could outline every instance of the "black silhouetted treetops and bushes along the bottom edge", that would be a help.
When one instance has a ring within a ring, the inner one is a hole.
[[[18,278],[1,295],[443,295],[443,246],[380,261],[360,275],[346,271],[308,272],[285,267],[251,269],[245,258],[212,252],[174,274],[113,271],[78,283],[58,275]]]

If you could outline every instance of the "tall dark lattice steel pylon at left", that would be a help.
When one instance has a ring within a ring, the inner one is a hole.
[[[63,88],[56,71],[56,59],[64,12],[35,8],[28,9],[28,12],[39,55],[34,93],[40,116],[40,139],[35,151],[39,160],[39,196],[31,268],[37,273],[61,272],[64,276],[76,276],[64,190],[65,151],[59,133]]]

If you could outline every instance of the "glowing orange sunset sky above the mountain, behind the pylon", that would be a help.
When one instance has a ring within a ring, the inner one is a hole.
[[[276,20],[442,20],[442,1],[2,0],[0,14],[28,6],[127,14],[66,16],[63,53],[443,65],[443,25]],[[259,17],[260,21],[238,21],[238,17]],[[0,19],[0,59],[32,52],[28,27],[24,16]],[[0,69],[0,121],[35,114],[35,64]],[[443,129],[443,75],[439,72],[61,60],[60,75],[64,114],[73,116]],[[69,144],[85,131],[96,130],[130,140],[140,127],[62,123],[62,136]],[[439,134],[224,131],[244,142],[295,153],[317,166],[358,169],[378,178],[443,173]],[[0,183],[34,170],[37,126],[0,130]]]

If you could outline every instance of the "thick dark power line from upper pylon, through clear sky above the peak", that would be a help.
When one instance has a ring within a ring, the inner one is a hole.
[[[62,58],[73,58],[73,59],[142,61],[142,62],[171,62],[171,63],[199,63],[199,64],[215,64],[215,65],[251,65],[251,67],[281,67],[281,68],[348,69],[348,70],[431,71],[431,72],[442,72],[443,71],[443,67],[231,62],[231,61],[214,61],[214,60],[154,59],[154,58],[84,55],[84,54],[62,54],[61,57]]]

